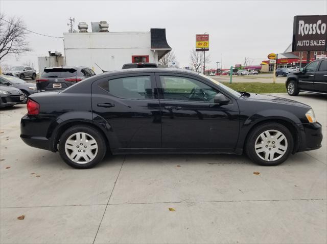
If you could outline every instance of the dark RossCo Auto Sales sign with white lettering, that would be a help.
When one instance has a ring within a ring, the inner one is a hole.
[[[292,51],[327,50],[327,15],[294,16]]]

